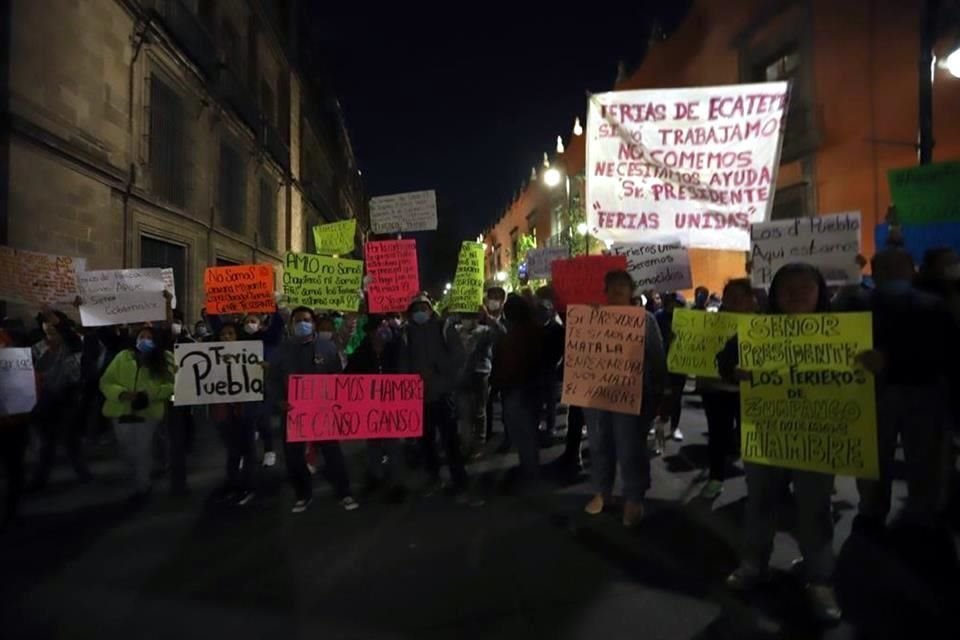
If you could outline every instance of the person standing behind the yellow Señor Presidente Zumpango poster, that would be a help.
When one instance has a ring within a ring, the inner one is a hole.
[[[770,285],[769,313],[773,315],[825,313],[830,310],[827,283],[816,268],[793,263],[780,270]],[[735,343],[732,343],[735,344]],[[721,372],[740,381],[741,391],[760,384],[760,374],[737,368],[740,354],[725,349]],[[790,484],[797,503],[797,542],[803,554],[803,574],[807,591],[818,617],[837,621],[841,617],[832,587],[833,519],[830,496],[834,476],[816,471],[800,471],[769,464],[744,464],[747,477],[747,513],[745,555],[740,567],[728,578],[733,589],[746,590],[759,585],[767,575],[773,538],[777,529],[777,511],[783,492]]]

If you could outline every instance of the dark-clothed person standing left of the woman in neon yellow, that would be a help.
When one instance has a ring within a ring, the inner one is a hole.
[[[83,460],[83,416],[77,415],[80,391],[80,336],[66,315],[49,309],[40,316],[44,338],[33,345],[33,366],[39,384],[33,423],[40,439],[31,489],[47,485],[57,441],[66,435],[67,453],[81,482],[90,480]]]

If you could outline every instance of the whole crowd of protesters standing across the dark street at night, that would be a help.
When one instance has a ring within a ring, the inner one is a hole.
[[[581,464],[581,436],[586,427],[593,496],[585,505],[596,515],[617,506],[613,495],[619,466],[623,485],[623,524],[632,527],[644,516],[650,489],[648,433],[682,439],[680,409],[686,376],[667,371],[673,339],[671,315],[685,306],[672,292],[637,297],[629,273],[614,271],[604,279],[606,303],[646,305],[643,404],[639,415],[569,407],[564,452],[554,464],[576,474]],[[891,482],[898,440],[903,446],[909,498],[905,517],[920,526],[939,524],[953,468],[952,441],[958,415],[956,391],[960,325],[960,259],[951,251],[931,252],[918,271],[908,252],[882,249],[872,260],[872,280],[831,289],[807,264],[781,268],[768,291],[749,279],[729,281],[722,296],[696,292],[694,308],[739,314],[810,314],[870,311],[874,349],[858,364],[876,375],[880,478],[858,481],[859,512],[855,526],[882,529],[891,509]],[[89,480],[80,435],[91,412],[108,419],[124,460],[131,469],[133,499],[145,500],[151,489],[155,431],[173,419],[181,426],[195,410],[174,407],[175,365],[172,346],[200,340],[260,340],[264,343],[266,399],[260,403],[211,405],[226,448],[222,497],[242,506],[254,499],[257,470],[272,466],[276,453],[272,427],[287,405],[287,381],[293,374],[417,374],[424,385],[423,436],[415,442],[384,439],[365,444],[368,489],[384,489],[403,499],[403,467],[422,466],[427,492],[444,492],[459,502],[479,506],[483,498],[467,465],[489,452],[492,408],[502,407],[505,434],[498,451],[515,447],[520,461],[520,491],[542,490],[540,449],[553,435],[564,361],[563,314],[549,286],[507,295],[490,288],[475,314],[440,314],[426,294],[411,300],[406,313],[351,317],[348,322],[306,307],[278,310],[269,316],[206,316],[193,331],[182,316],[135,330],[77,327],[59,312],[44,310],[38,331],[21,340],[0,333],[0,346],[27,344],[37,372],[38,404],[30,415],[0,418],[7,466],[6,513],[16,510],[23,488],[23,451],[27,429],[36,429],[40,448],[33,484],[49,477],[56,443],[66,439],[78,477]],[[750,371],[739,365],[736,336],[716,354],[720,376],[698,379],[709,432],[709,480],[701,498],[713,500],[723,490],[730,463],[738,455],[739,383]],[[261,461],[257,439],[266,452]],[[662,445],[661,445],[662,446]],[[442,453],[441,453],[442,450]],[[316,454],[323,476],[345,510],[358,508],[343,451],[338,442],[287,442],[284,459],[294,491],[292,511],[305,511],[313,499]],[[448,470],[442,480],[441,467]],[[796,537],[802,571],[815,610],[826,621],[840,618],[831,587],[834,523],[831,495],[834,477],[771,465],[745,463],[748,490],[744,552],[740,567],[727,579],[731,588],[760,584],[773,549],[778,507],[792,491],[798,511]]]

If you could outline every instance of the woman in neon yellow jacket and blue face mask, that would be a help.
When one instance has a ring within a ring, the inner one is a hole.
[[[153,434],[173,395],[175,366],[165,343],[163,330],[144,327],[136,347],[118,353],[100,378],[103,415],[112,419],[121,455],[132,470],[134,502],[150,495]]]

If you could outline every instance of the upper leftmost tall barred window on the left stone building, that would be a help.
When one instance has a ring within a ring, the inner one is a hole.
[[[153,192],[178,207],[187,204],[186,117],[183,98],[150,76],[150,178]]]

